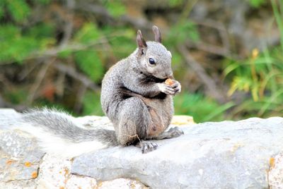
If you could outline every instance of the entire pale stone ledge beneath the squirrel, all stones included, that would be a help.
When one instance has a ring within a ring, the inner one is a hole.
[[[176,118],[185,135],[156,141],[154,152],[111,147],[71,160],[43,154],[35,138],[0,124],[0,188],[282,188],[283,118],[195,125]],[[111,127],[105,117],[76,121]]]

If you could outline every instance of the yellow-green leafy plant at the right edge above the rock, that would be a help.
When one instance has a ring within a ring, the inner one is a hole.
[[[233,81],[228,92],[243,91],[251,94],[232,114],[246,111],[249,116],[275,116],[282,114],[283,104],[283,4],[272,2],[275,20],[281,37],[281,47],[265,49],[259,52],[254,49],[250,58],[243,61],[231,60],[224,69],[226,78]]]

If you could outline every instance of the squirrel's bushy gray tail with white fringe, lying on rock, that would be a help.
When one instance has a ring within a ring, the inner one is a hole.
[[[114,130],[81,128],[74,117],[54,109],[30,109],[10,120],[9,125],[10,129],[24,130],[34,135],[44,152],[63,157],[75,157],[117,145]]]

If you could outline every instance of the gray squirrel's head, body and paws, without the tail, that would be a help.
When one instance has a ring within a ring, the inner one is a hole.
[[[156,40],[161,41],[156,28]],[[110,68],[102,83],[101,105],[114,124],[120,145],[176,136],[163,134],[158,138],[168,128],[173,116],[173,98],[168,94],[180,92],[178,81],[174,80],[172,86],[164,83],[167,78],[173,78],[171,53],[159,42],[144,44],[140,31],[137,44],[136,51]],[[150,58],[156,61],[155,65],[149,63]],[[161,127],[152,135],[151,129],[158,128],[156,124]],[[147,148],[148,151],[156,148],[151,142],[144,144],[138,144],[143,152]]]

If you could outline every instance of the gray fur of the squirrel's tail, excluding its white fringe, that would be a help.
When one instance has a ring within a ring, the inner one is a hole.
[[[117,145],[114,130],[102,128],[86,130],[76,126],[71,119],[71,116],[58,110],[30,109],[25,111],[20,121],[29,123],[34,127],[40,127],[47,133],[74,143],[99,140],[107,143],[108,146]]]

